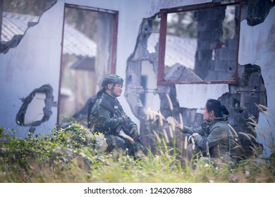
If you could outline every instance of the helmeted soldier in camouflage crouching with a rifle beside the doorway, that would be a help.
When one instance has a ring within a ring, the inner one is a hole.
[[[116,150],[123,153],[128,148],[128,154],[138,158],[140,150],[147,154],[147,149],[140,144],[137,125],[124,113],[118,102],[117,97],[121,96],[122,87],[121,77],[106,75],[102,89],[97,92],[97,100],[92,106],[88,122],[92,132],[104,134],[107,152]]]

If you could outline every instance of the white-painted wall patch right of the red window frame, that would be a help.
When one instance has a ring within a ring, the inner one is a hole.
[[[239,63],[240,65],[255,64],[262,69],[262,77],[264,86],[267,89],[267,107],[270,110],[272,118],[275,118],[275,7],[271,8],[269,15],[264,23],[248,26],[247,21],[243,20],[240,24],[240,49]],[[259,117],[259,127],[265,128],[267,132],[273,133],[275,136],[275,122],[271,120],[271,129],[267,127],[267,118],[263,114]],[[270,120],[269,120],[270,121]],[[267,139],[268,139],[268,135]],[[264,155],[270,155],[271,148],[266,144],[267,139],[258,135],[259,142],[264,144]],[[273,146],[275,141],[273,141]],[[274,147],[275,148],[275,147]],[[273,151],[275,151],[273,149]]]

